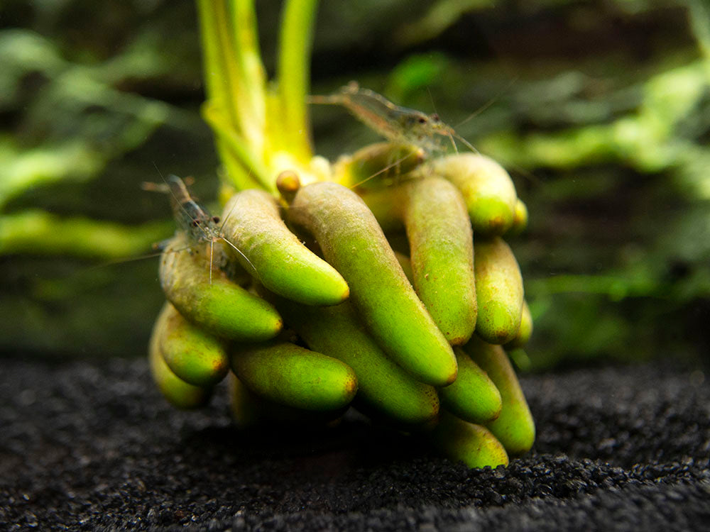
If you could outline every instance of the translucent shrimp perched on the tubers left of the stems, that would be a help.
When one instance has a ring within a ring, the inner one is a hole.
[[[173,216],[175,217],[178,231],[185,233],[192,245],[209,242],[209,284],[212,284],[212,261],[215,242],[222,241],[229,245],[236,253],[244,257],[244,260],[246,260],[256,272],[249,257],[246,257],[234,243],[231,243],[228,238],[224,237],[222,229],[229,219],[229,216],[231,216],[231,211],[224,218],[224,221],[222,221],[222,225],[218,226],[219,216],[209,214],[209,211],[192,197],[192,194],[190,194],[190,191],[187,189],[187,185],[180,177],[170,174],[168,175],[168,179],[163,180],[165,184],[143,183],[143,189],[170,194],[170,206],[173,209]]]

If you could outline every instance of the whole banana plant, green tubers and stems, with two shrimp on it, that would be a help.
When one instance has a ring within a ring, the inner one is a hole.
[[[506,170],[457,153],[438,116],[354,82],[310,98],[316,1],[285,1],[271,81],[254,2],[197,6],[224,211],[209,214],[179,177],[156,186],[178,225],[149,347],[165,397],[203,406],[229,375],[240,426],[324,423],[354,406],[470,467],[525,453],[535,426],[501,345],[523,345],[532,323],[501,237],[527,210]],[[309,99],[386,142],[334,163],[314,155]]]

